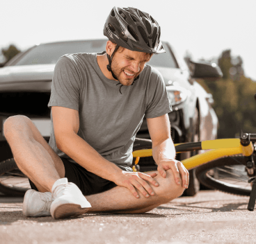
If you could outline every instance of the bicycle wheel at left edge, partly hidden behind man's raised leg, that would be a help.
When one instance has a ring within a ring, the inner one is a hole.
[[[29,178],[17,167],[15,160],[0,162],[0,192],[6,195],[23,196],[31,189]]]

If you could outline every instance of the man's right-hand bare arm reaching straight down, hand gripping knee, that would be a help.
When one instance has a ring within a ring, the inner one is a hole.
[[[182,176],[182,186],[188,188],[189,171],[184,165],[175,160],[175,147],[170,137],[170,121],[168,114],[147,119],[147,128],[152,139],[152,154],[157,163],[157,171],[166,177],[166,171],[171,169],[175,175],[175,181],[179,183],[179,174]]]

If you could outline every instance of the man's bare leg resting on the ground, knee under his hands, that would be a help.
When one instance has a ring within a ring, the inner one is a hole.
[[[184,188],[175,182],[173,171],[168,170],[166,178],[158,174],[154,179],[159,186],[150,184],[155,195],[149,198],[138,192],[140,198],[135,198],[131,192],[122,186],[98,193],[86,195],[86,199],[92,205],[88,212],[113,212],[117,214],[141,214],[150,211],[160,204],[170,202],[179,195],[182,195]],[[182,180],[180,180],[182,182]]]

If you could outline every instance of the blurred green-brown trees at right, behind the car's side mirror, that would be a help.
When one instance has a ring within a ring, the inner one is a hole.
[[[218,65],[223,78],[215,82],[198,80],[214,98],[214,110],[218,116],[218,138],[232,138],[243,132],[256,133],[256,82],[243,75],[241,57],[232,57],[231,51],[223,51]]]

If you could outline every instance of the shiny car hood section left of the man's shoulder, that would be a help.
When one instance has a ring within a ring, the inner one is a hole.
[[[0,85],[6,82],[51,80],[55,64],[8,66],[0,69]]]

